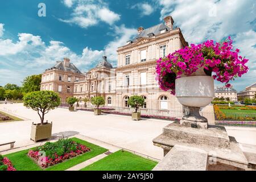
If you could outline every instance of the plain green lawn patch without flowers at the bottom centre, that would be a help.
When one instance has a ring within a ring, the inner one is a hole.
[[[127,151],[117,151],[81,171],[151,171],[157,162],[131,154]]]

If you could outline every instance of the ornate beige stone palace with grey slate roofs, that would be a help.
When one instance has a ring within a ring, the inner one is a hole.
[[[174,20],[167,16],[164,23],[139,27],[138,35],[117,49],[116,68],[103,56],[95,68],[81,73],[64,58],[42,74],[41,90],[59,92],[63,104],[70,96],[80,100],[103,96],[106,106],[122,109],[129,109],[129,97],[138,95],[145,98],[141,111],[168,115],[172,110],[182,110],[182,105],[175,96],[159,88],[155,79],[156,60],[185,46],[188,43],[180,28],[174,28]]]

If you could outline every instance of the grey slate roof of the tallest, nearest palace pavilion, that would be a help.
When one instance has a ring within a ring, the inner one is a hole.
[[[160,24],[157,24],[156,26],[146,28],[140,34],[135,36],[135,38],[132,41],[135,42],[138,38],[148,38],[150,37],[149,36],[150,34],[158,35],[164,29],[166,29],[167,31],[170,31],[170,28],[167,27],[164,23],[160,23]]]

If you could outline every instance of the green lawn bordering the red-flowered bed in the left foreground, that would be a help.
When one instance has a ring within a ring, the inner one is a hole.
[[[72,140],[89,147],[90,151],[80,156],[76,156],[75,158],[66,160],[63,163],[48,167],[46,168],[47,171],[64,171],[65,169],[71,168],[76,164],[82,163],[85,160],[88,160],[90,158],[93,158],[94,156],[100,155],[108,151],[106,148],[96,146],[95,144],[86,142],[78,138],[72,138]],[[27,152],[28,150],[23,150],[15,152],[13,154],[7,154],[5,156],[11,160],[17,171],[42,171],[43,169],[40,168],[31,158],[27,156]]]

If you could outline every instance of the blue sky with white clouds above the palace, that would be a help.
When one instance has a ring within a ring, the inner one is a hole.
[[[46,17],[38,4],[46,4]],[[256,3],[253,0],[9,0],[0,4],[0,85],[20,85],[69,57],[81,71],[94,67],[106,49],[117,63],[117,47],[172,15],[190,43],[232,36],[250,71],[232,82],[237,90],[256,81]],[[216,85],[222,85],[216,82]]]

